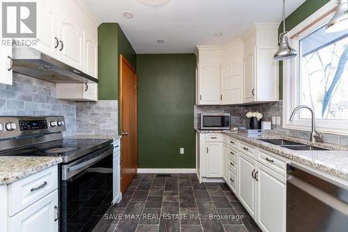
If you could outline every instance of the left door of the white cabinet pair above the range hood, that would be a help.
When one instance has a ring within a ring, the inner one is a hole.
[[[57,58],[59,39],[56,1],[36,0],[36,2],[38,42],[33,48]]]

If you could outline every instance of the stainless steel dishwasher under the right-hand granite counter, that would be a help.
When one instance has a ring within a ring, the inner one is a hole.
[[[287,231],[348,231],[348,187],[287,165]]]

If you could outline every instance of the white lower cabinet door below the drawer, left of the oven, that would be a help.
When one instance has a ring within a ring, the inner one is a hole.
[[[8,232],[58,232],[58,190],[8,217]]]

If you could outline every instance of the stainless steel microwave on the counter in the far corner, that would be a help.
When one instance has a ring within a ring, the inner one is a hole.
[[[200,130],[230,130],[230,114],[199,114]]]

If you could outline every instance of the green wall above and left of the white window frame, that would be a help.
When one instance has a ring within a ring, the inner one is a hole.
[[[315,11],[322,8],[330,0],[307,0],[302,3],[299,8],[294,10],[291,15],[285,19],[285,29],[290,31],[303,20],[306,20],[310,15],[315,13]],[[283,32],[283,22],[279,26],[279,34]],[[283,61],[279,62],[279,98],[283,99]]]

